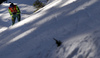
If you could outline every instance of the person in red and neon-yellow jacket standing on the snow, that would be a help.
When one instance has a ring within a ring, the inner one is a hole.
[[[17,5],[14,5],[13,3],[10,4],[8,11],[10,15],[12,16],[12,25],[15,24],[15,20],[17,18],[18,22],[21,20],[20,16],[20,9]]]

